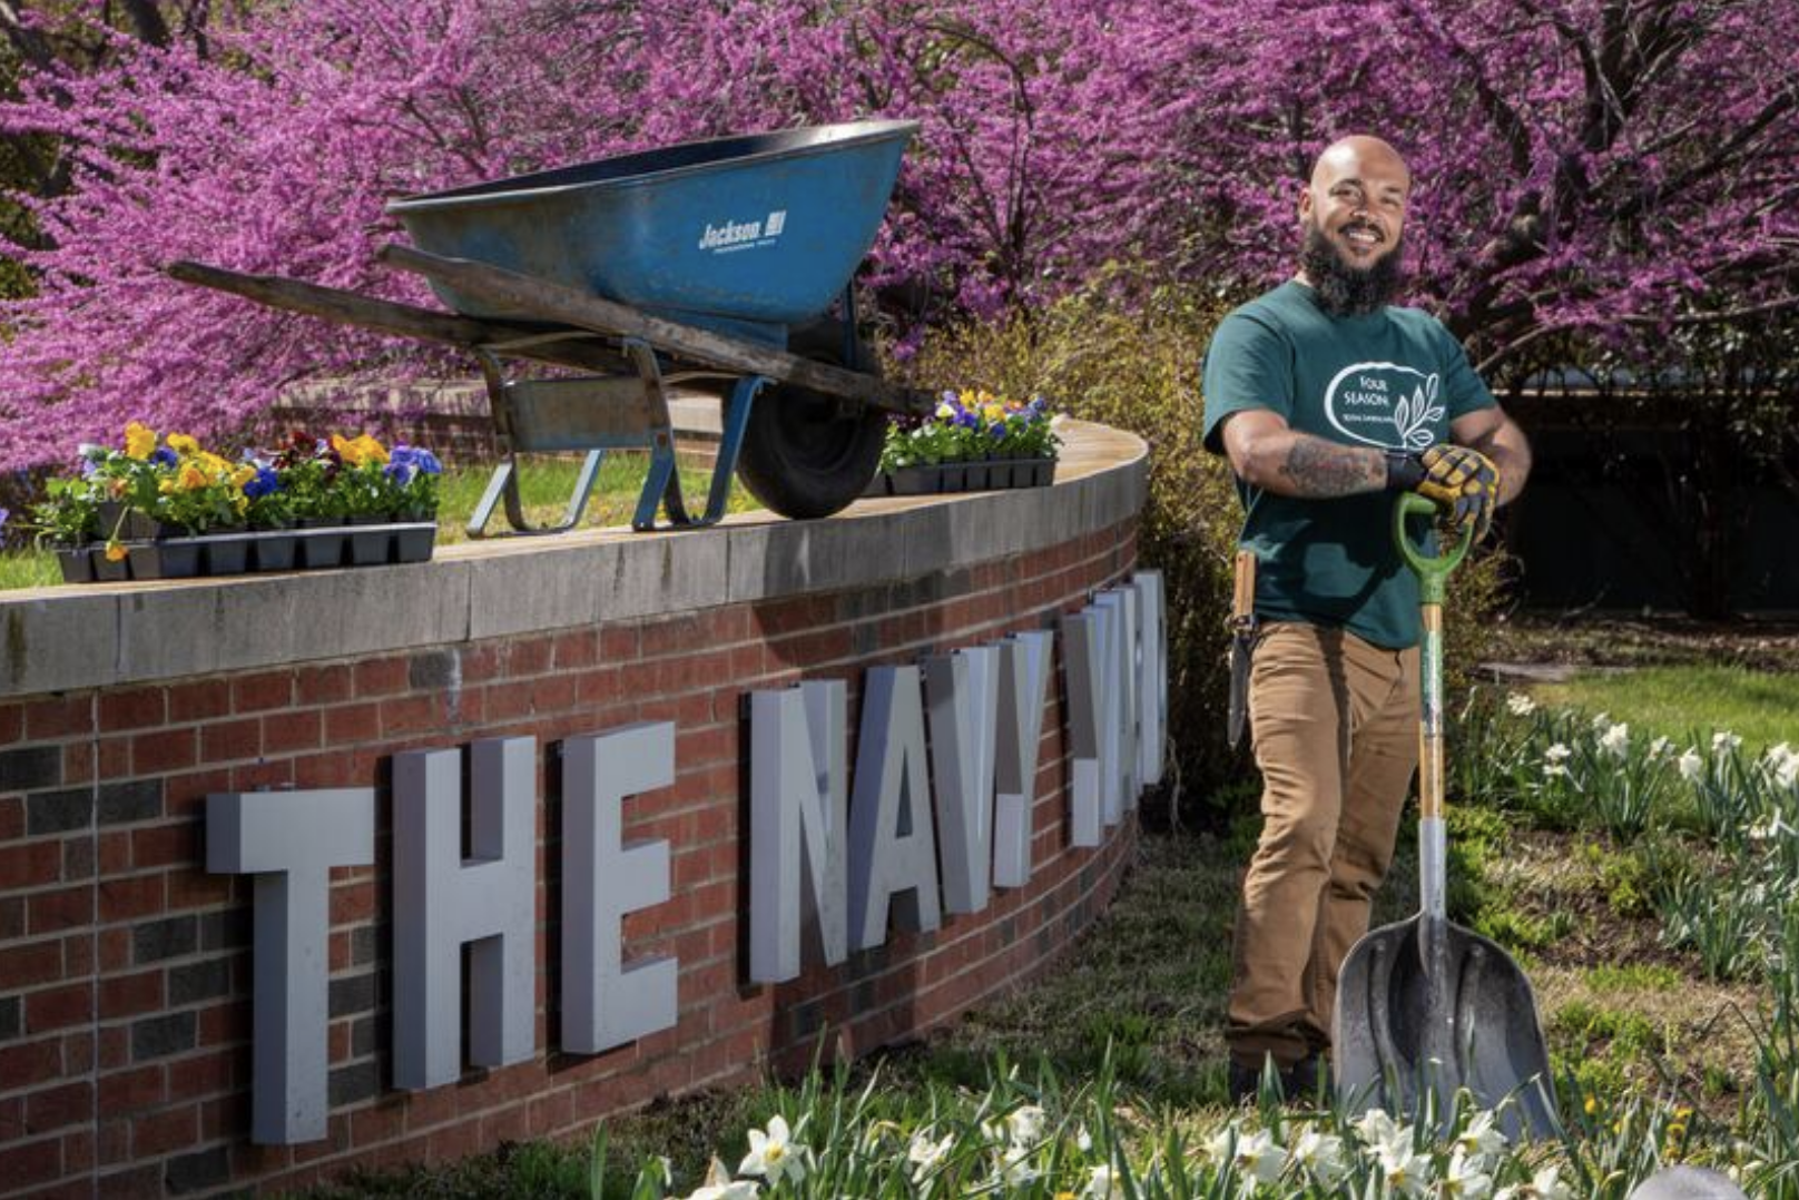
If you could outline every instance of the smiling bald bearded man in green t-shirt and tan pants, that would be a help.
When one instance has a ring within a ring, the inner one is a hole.
[[[1410,191],[1387,142],[1329,146],[1299,194],[1299,273],[1232,311],[1205,354],[1205,446],[1231,461],[1256,560],[1263,831],[1232,943],[1232,1099],[1270,1060],[1288,1096],[1326,1076],[1337,973],[1418,766],[1418,581],[1389,493],[1428,495],[1479,536],[1531,466],[1448,329],[1391,304]]]

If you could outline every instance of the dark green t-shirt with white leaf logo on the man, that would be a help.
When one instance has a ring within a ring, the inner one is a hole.
[[[1351,446],[1423,450],[1448,441],[1455,417],[1493,405],[1461,344],[1428,313],[1329,317],[1293,281],[1223,318],[1205,351],[1204,392],[1213,453],[1223,453],[1220,423],[1245,408]],[[1394,649],[1418,644],[1418,578],[1392,545],[1392,493],[1304,500],[1238,480],[1238,495],[1263,621],[1340,626]]]

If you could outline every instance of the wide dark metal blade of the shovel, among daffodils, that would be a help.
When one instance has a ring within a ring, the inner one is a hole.
[[[1337,1094],[1349,1112],[1385,1108],[1437,1123],[1457,1088],[1499,1114],[1508,1137],[1560,1132],[1554,1079],[1531,984],[1497,943],[1423,914],[1371,930],[1344,959],[1333,1015]]]

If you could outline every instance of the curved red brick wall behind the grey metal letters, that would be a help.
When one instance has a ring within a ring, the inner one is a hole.
[[[975,567],[667,617],[0,700],[0,1195],[295,1187],[351,1164],[554,1137],[664,1094],[941,1024],[1040,972],[1117,887],[1133,826],[1067,844],[1060,653],[1043,720],[1027,887],[894,934],[838,968],[747,982],[745,694],[1054,624],[1135,565],[1135,520]],[[676,725],[675,786],[626,806],[667,838],[673,900],[626,919],[626,955],[680,957],[678,1027],[561,1054],[554,743]],[[538,1054],[459,1085],[390,1088],[390,759],[538,739]],[[851,750],[853,754],[853,750]],[[853,761],[853,757],[851,757]],[[329,1137],[252,1146],[250,880],[203,871],[210,792],[378,788],[376,865],[331,891]],[[810,955],[808,955],[810,963]]]

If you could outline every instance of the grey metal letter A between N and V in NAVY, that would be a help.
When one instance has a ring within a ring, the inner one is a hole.
[[[855,950],[887,941],[891,905],[898,909],[894,918],[901,928],[934,930],[943,925],[917,667],[874,667],[864,684],[856,783],[849,802]]]

